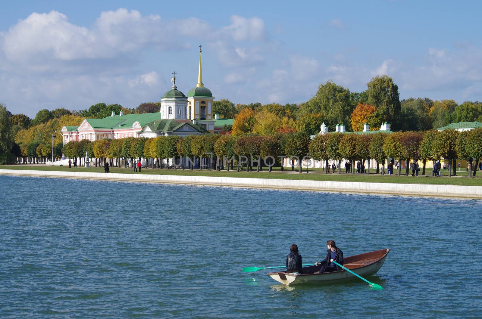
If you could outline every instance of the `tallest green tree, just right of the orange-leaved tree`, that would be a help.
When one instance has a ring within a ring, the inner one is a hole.
[[[393,79],[386,76],[378,76],[367,83],[368,104],[376,106],[374,117],[380,122],[391,123],[393,130],[401,128],[401,104],[398,93],[398,86]]]

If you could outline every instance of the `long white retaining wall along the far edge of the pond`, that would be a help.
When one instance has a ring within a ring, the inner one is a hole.
[[[473,199],[482,199],[482,186],[333,182],[333,181],[309,181],[309,180],[305,181],[305,180],[293,180],[293,179],[268,179],[268,178],[244,178],[244,177],[84,173],[84,172],[30,171],[30,170],[0,170],[0,174],[100,179],[100,180],[130,181],[130,182],[265,187],[265,188],[322,190],[322,191],[348,191],[348,192],[381,193],[381,194],[392,194],[392,195],[425,195],[425,196],[446,196],[446,197],[465,197],[465,198],[473,198]]]

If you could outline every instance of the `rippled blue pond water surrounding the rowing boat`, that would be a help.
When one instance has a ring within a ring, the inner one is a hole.
[[[0,176],[1,317],[478,317],[482,201]],[[391,248],[370,278],[266,271]],[[330,314],[328,314],[330,311]]]

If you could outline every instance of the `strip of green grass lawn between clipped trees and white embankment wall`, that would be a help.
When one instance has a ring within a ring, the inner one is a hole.
[[[77,167],[68,168],[67,166],[47,166],[47,165],[0,165],[0,169],[9,170],[32,170],[32,171],[63,171],[63,172],[93,172],[93,173],[104,173],[104,168],[102,167]],[[322,173],[320,169],[310,170],[310,173],[297,173],[291,172],[291,168],[280,172],[279,168],[276,171],[269,173],[267,170],[263,172],[236,172],[226,171],[217,172],[215,170],[208,171],[203,169],[199,170],[174,170],[174,169],[151,169],[143,168],[142,172],[133,172],[131,168],[118,168],[110,167],[110,173],[128,173],[128,174],[163,174],[163,175],[193,175],[193,176],[219,176],[219,177],[246,177],[246,178],[273,178],[273,179],[300,179],[300,180],[315,180],[315,181],[340,181],[340,182],[374,182],[374,183],[404,183],[404,184],[444,184],[444,185],[468,185],[468,186],[482,186],[482,172],[478,171],[477,174],[480,176],[474,178],[468,178],[467,172],[457,172],[457,176],[448,177],[442,176],[440,178],[431,177],[428,175],[429,170],[426,172],[427,175],[418,177],[413,177],[411,175],[405,176],[404,170],[402,170],[402,176],[398,175],[380,175],[380,174],[347,174],[347,173]],[[445,175],[448,172],[445,171]],[[411,172],[410,172],[411,174]],[[464,174],[465,176],[460,176]]]

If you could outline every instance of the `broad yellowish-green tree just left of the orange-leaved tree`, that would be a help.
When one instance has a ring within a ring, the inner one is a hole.
[[[321,113],[326,116],[325,124],[335,127],[336,124],[350,122],[353,108],[349,90],[329,80],[320,84],[315,96],[300,104],[297,118]]]

